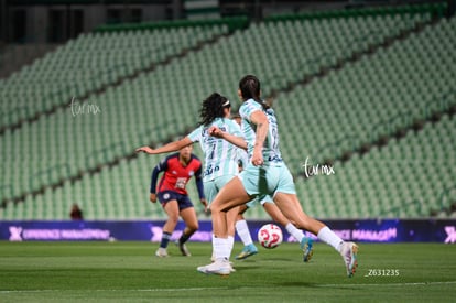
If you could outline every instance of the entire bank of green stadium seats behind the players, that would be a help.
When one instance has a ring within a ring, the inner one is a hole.
[[[281,121],[283,155],[292,172],[302,174],[306,156],[313,163],[339,158],[363,143],[392,136],[415,119],[428,119],[455,105],[452,79],[456,59],[454,52],[448,52],[456,46],[455,20],[442,19],[417,34],[399,40],[401,33],[427,24],[431,18],[428,12],[406,11],[273,19],[220,36],[214,44],[158,65],[152,73],[124,79],[88,99],[75,98],[68,108],[4,132],[0,138],[3,160],[0,199],[33,192],[126,156],[151,141],[163,143],[186,133],[196,126],[198,108],[206,96],[219,91],[235,101],[237,82],[248,73],[260,75],[264,96],[291,88],[278,95],[274,106]],[[69,102],[72,96],[84,96],[198,41],[227,32],[226,26],[214,25],[151,32],[100,31],[80,36],[0,82],[1,98],[22,100],[2,104],[3,112],[8,112],[2,115],[3,122],[14,123],[35,110],[46,110],[62,102],[64,95]],[[183,39],[188,35],[198,39]],[[351,63],[354,55],[368,54],[372,46],[391,40],[397,40],[391,47]],[[126,54],[131,44],[135,45],[134,51]],[[306,76],[315,76],[344,61],[348,62],[339,71],[305,86],[298,85]],[[30,104],[31,99],[36,102]],[[96,108],[100,112],[94,112]],[[447,119],[426,129],[424,134],[419,132],[416,138],[424,136],[421,141],[412,140],[414,137],[409,138],[409,133],[404,140],[390,141],[386,150],[372,150],[362,158],[354,155],[344,164],[336,162],[335,175],[305,182],[297,178],[304,208],[322,218],[427,215],[438,206],[435,195],[452,186],[448,180],[455,180],[454,171],[448,171],[445,182],[420,176],[416,182],[422,183],[414,183],[414,178],[400,177],[402,170],[425,171],[404,164],[399,166],[401,171],[390,173],[398,166],[382,164],[392,153],[390,150],[404,145],[405,150],[415,151],[423,148],[428,136],[448,136],[438,126],[454,128]],[[454,138],[454,133],[449,134]],[[452,141],[442,142],[439,148],[448,150]],[[202,158],[199,148],[195,147],[195,152]],[[35,197],[28,195],[24,203],[9,205],[0,214],[6,219],[66,219],[76,202],[87,219],[162,218],[160,207],[150,205],[148,199],[151,169],[160,159],[141,155],[120,161],[99,174],[85,174],[74,183],[65,181],[62,187],[47,188]],[[452,158],[445,161],[454,163]],[[398,187],[388,187],[392,184]],[[423,184],[438,186],[423,192],[420,190]],[[189,193],[198,205],[193,185]],[[202,212],[199,205],[198,212]],[[259,207],[248,216],[267,217]]]

